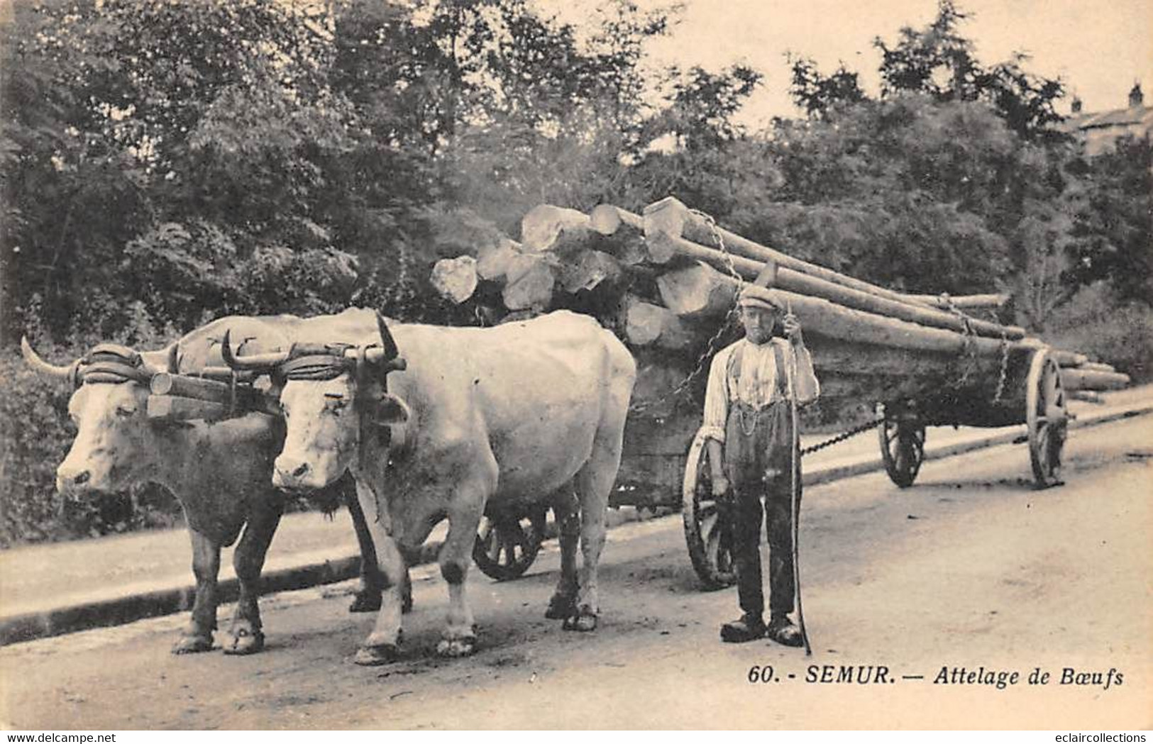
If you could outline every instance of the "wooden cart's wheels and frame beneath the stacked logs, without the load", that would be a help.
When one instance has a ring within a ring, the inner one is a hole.
[[[823,377],[836,392],[838,377],[822,354],[823,343],[816,341],[812,347],[819,377],[828,372]],[[873,390],[879,416],[852,433],[876,428],[886,472],[905,488],[913,484],[924,462],[926,427],[1025,424],[1034,483],[1037,487],[1055,485],[1060,483],[1069,418],[1058,356],[1043,346],[1010,348],[1003,372],[994,370],[992,378],[980,374],[978,367],[948,390],[930,387],[935,381],[920,389],[907,384],[887,388],[895,390],[892,395],[884,395],[886,389]],[[668,417],[633,416],[625,428],[625,456],[610,506],[679,508],[693,568],[704,587],[719,589],[734,580],[730,539],[713,496],[708,448],[699,425],[700,409],[692,405]],[[548,534],[547,508],[489,515],[477,536],[476,565],[498,580],[527,571]]]

